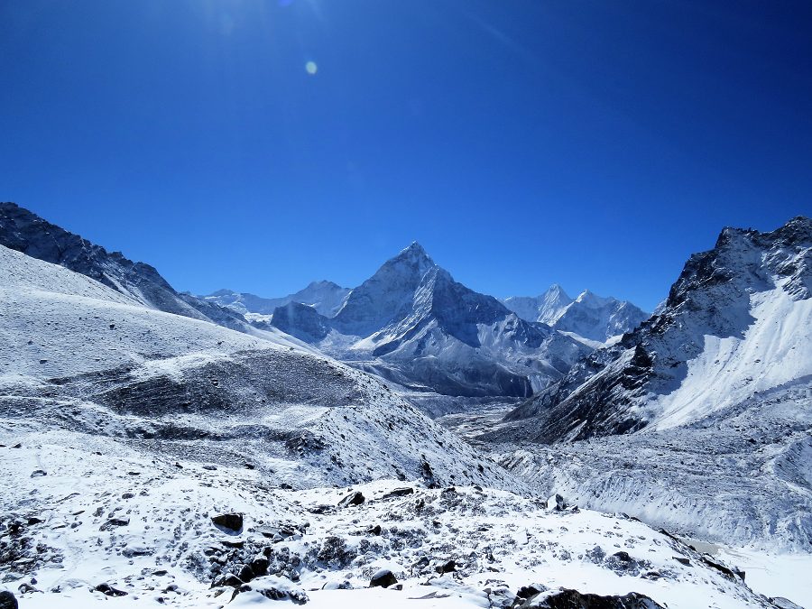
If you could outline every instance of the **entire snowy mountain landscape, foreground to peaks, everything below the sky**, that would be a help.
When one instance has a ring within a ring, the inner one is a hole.
[[[810,303],[806,217],[725,228],[649,318],[497,300],[416,243],[352,290],[196,297],[0,204],[3,585],[318,607],[385,572],[461,606],[798,607],[732,561],[808,571]]]

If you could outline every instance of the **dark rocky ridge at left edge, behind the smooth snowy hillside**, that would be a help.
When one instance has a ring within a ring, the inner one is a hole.
[[[230,309],[174,291],[149,264],[134,263],[121,252],[108,253],[101,245],[91,244],[14,203],[0,203],[0,245],[100,281],[150,309],[212,321],[240,332],[251,328],[245,318]]]

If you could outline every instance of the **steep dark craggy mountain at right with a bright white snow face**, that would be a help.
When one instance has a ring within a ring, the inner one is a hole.
[[[812,220],[725,228],[659,313],[509,415],[543,442],[669,429],[812,375]],[[528,420],[531,419],[531,420]]]

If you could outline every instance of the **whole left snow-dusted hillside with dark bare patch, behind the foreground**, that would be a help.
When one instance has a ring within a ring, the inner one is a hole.
[[[379,380],[282,333],[147,308],[4,246],[0,318],[2,429],[247,463],[297,488],[409,476],[521,489]]]

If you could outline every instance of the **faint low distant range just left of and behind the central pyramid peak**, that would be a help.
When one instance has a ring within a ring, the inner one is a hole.
[[[316,309],[319,315],[331,318],[344,306],[349,293],[348,288],[342,288],[332,281],[313,281],[304,290],[281,298],[262,298],[248,292],[239,293],[231,290],[218,290],[198,298],[233,309],[244,316],[251,313],[271,315],[273,309],[277,307],[283,307],[289,302],[300,302]]]

